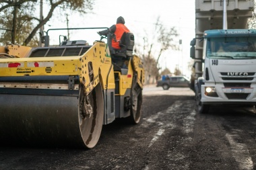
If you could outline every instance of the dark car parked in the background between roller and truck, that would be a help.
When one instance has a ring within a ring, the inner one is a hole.
[[[189,82],[185,76],[164,77],[157,81],[156,87],[162,87],[164,90],[168,90],[170,87],[190,87]]]

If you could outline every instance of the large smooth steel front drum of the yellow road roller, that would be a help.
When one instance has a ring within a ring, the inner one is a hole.
[[[0,94],[0,141],[29,146],[92,148],[102,130],[100,84],[90,93],[93,114],[82,118],[79,90],[9,89]]]

